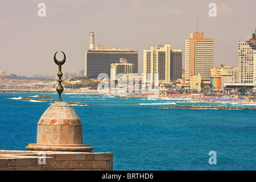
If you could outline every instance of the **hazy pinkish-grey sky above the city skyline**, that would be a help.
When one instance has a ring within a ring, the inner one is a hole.
[[[39,17],[39,3],[46,4],[46,17]],[[216,3],[217,16],[210,17],[209,3]],[[185,39],[197,30],[214,39],[214,67],[237,66],[237,43],[256,28],[254,0],[0,0],[0,69],[16,75],[55,75],[65,52],[63,72],[85,67],[89,32],[95,45],[106,49],[143,49],[171,44],[183,50]]]

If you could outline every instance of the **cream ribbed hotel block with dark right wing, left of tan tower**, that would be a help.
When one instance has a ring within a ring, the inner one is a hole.
[[[143,73],[152,81],[158,73],[159,83],[176,81],[182,77],[182,51],[171,49],[169,44],[143,50]]]

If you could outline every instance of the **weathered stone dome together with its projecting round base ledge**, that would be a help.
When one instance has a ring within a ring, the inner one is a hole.
[[[67,102],[55,102],[38,122],[36,144],[27,150],[87,151],[94,147],[82,144],[82,122]]]

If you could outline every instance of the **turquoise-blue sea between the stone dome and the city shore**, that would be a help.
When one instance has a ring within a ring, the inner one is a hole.
[[[37,123],[52,103],[14,97],[40,94],[57,100],[57,93],[0,93],[0,150],[26,150],[28,143],[36,143]],[[82,121],[84,144],[91,144],[93,152],[113,152],[116,171],[256,170],[256,110],[156,108],[245,104],[90,94],[61,96],[63,101],[93,105],[72,106]],[[216,152],[216,164],[208,162],[210,151]]]

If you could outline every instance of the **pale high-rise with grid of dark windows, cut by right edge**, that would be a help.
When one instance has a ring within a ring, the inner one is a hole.
[[[256,32],[256,30],[255,30]],[[251,33],[245,42],[238,42],[238,67],[239,82],[253,84],[254,78],[254,55],[256,51],[255,33]]]

